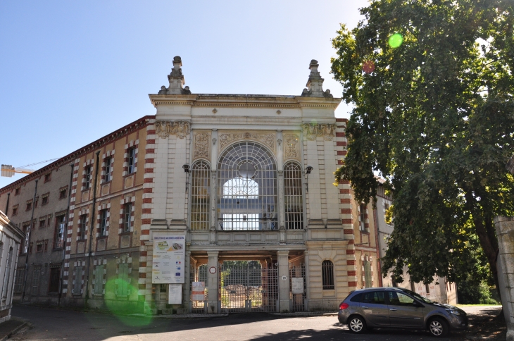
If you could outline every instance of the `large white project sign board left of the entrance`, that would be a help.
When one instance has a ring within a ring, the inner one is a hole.
[[[185,254],[184,235],[154,236],[151,283],[184,283]]]

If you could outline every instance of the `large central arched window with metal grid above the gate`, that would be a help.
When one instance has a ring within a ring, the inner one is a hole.
[[[218,162],[218,227],[222,230],[277,228],[277,166],[268,149],[239,142]]]

